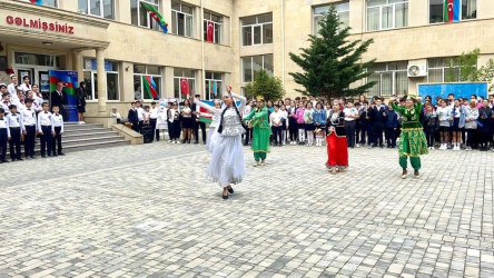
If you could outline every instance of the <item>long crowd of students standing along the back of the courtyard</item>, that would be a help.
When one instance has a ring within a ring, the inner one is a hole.
[[[199,96],[196,96],[199,98]],[[405,99],[394,100],[404,106]],[[427,146],[432,149],[454,151],[478,149],[494,151],[494,95],[487,99],[472,95],[470,99],[455,98],[449,93],[447,98],[424,98],[424,109],[419,115],[419,122],[424,127]],[[368,99],[359,96],[338,99],[332,103],[317,100],[314,97],[286,98],[277,102],[267,101],[269,123],[271,126],[271,146],[305,145],[320,147],[325,142],[325,127],[333,113],[333,103],[340,106],[345,115],[344,127],[348,148],[387,147],[396,148],[401,133],[402,116],[391,103],[379,97]],[[246,116],[257,106],[256,100],[247,101],[244,109]],[[156,122],[166,119],[169,130],[169,142],[195,143],[199,142],[199,129],[202,132],[202,142],[206,143],[206,126],[199,121],[201,113],[194,103],[194,99],[184,102],[172,101],[166,106],[141,108],[141,101],[132,103],[129,120],[132,128],[140,131],[142,126],[150,125],[156,130],[156,139],[160,132]],[[210,117],[210,115],[209,115]],[[162,126],[161,126],[162,127]],[[244,145],[251,140],[251,129],[246,127],[243,137]],[[180,139],[181,138],[181,139]]]

